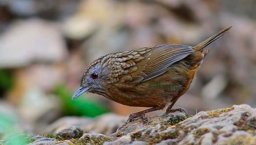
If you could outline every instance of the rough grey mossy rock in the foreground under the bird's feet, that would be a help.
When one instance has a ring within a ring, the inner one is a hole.
[[[255,128],[256,109],[233,105],[195,116],[175,113],[151,116],[150,121],[140,118],[121,125],[108,136],[84,133],[82,128],[71,126],[56,134],[31,137],[29,141],[31,145],[255,145]]]

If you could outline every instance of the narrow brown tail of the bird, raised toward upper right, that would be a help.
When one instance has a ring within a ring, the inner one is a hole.
[[[231,26],[232,27],[232,26]],[[225,29],[223,29],[222,31],[219,31],[218,33],[216,33],[215,35],[211,36],[210,38],[204,40],[203,42],[197,44],[194,47],[195,51],[203,51],[204,47],[206,47],[207,45],[211,44],[212,42],[214,42],[215,40],[219,39],[220,37],[222,37],[223,35],[226,34],[226,32],[231,28],[231,27],[227,27]]]

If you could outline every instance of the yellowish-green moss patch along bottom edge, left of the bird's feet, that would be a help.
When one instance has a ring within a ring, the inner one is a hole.
[[[95,137],[85,137],[83,139],[74,139],[72,138],[70,140],[72,144],[70,145],[84,145],[84,144],[92,144],[92,145],[102,145],[106,141],[113,141],[111,137],[101,137],[101,138],[95,138]]]

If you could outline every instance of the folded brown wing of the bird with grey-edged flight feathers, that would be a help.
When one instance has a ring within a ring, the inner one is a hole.
[[[131,82],[138,84],[155,78],[166,72],[170,65],[184,59],[192,52],[195,52],[192,47],[186,45],[156,45],[151,48],[151,51],[142,55],[145,57],[143,61],[136,63],[136,66],[140,69],[132,73]]]

